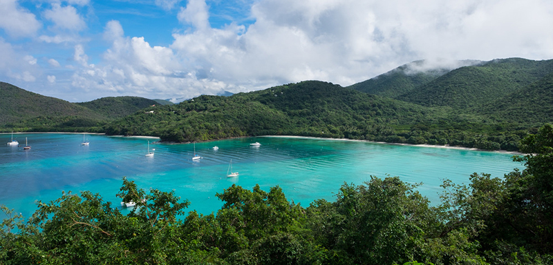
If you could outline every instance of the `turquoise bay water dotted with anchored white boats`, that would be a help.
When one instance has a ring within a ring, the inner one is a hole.
[[[0,135],[0,143],[11,135]],[[28,137],[31,150],[23,150]],[[469,182],[471,173],[503,177],[514,168],[512,155],[423,146],[398,146],[362,141],[308,139],[296,137],[252,137],[196,143],[203,157],[192,161],[193,144],[153,142],[154,157],[145,157],[148,141],[132,137],[86,135],[82,146],[79,134],[15,134],[20,146],[0,145],[0,204],[15,208],[26,217],[36,210],[35,202],[50,202],[62,190],[91,190],[104,200],[119,205],[115,197],[122,177],[140,188],[175,190],[189,199],[189,210],[203,214],[221,208],[215,195],[232,184],[263,190],[279,185],[286,197],[302,206],[313,199],[335,199],[339,187],[362,184],[371,175],[399,176],[418,188],[431,202],[439,202],[443,179]],[[250,143],[259,141],[260,147]],[[218,150],[213,150],[218,146]],[[227,178],[229,161],[239,177]],[[2,217],[0,217],[2,218]]]

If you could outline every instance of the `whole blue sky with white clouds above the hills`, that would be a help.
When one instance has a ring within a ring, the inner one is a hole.
[[[0,0],[0,81],[71,102],[553,59],[551,0]]]

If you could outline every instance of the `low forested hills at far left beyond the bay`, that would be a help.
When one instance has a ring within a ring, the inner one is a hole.
[[[142,97],[106,97],[71,103],[0,82],[0,131],[88,131],[158,104]]]

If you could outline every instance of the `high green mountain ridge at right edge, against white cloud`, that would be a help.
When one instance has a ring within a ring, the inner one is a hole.
[[[553,60],[497,59],[452,70],[396,99],[422,106],[471,108],[505,97],[552,71]]]

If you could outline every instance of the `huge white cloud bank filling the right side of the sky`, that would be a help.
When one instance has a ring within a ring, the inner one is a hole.
[[[450,68],[461,59],[553,57],[553,36],[543,34],[553,2],[531,2],[265,0],[254,3],[255,22],[241,30],[209,28],[205,2],[196,0],[178,15],[195,30],[174,34],[171,48],[198,77],[225,84],[347,86],[419,59]]]

